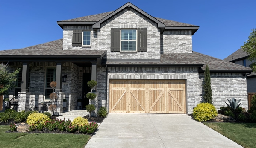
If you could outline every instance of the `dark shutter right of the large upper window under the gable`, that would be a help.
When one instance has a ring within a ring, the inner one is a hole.
[[[138,52],[147,52],[147,28],[138,28]]]

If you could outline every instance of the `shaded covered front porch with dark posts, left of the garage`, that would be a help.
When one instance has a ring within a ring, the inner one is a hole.
[[[18,98],[18,111],[47,110],[49,95],[53,92],[49,87],[51,81],[56,81],[54,90],[58,94],[56,99],[56,114],[71,110],[85,110],[88,104],[86,94],[90,91],[87,82],[96,80],[97,67],[101,67],[101,59],[105,51],[84,51],[87,55],[41,55],[41,56],[10,56],[9,69],[21,68],[17,78],[17,87],[9,91],[4,98]],[[84,53],[84,54],[85,54]],[[95,90],[97,93],[97,90]],[[66,99],[66,107],[63,107]],[[77,100],[82,99],[82,105]],[[94,102],[97,108],[97,101]],[[86,114],[86,113],[85,113]],[[85,115],[86,116],[86,115]]]

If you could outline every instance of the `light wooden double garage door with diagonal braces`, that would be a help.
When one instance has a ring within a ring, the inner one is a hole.
[[[110,80],[110,113],[186,113],[185,80]]]

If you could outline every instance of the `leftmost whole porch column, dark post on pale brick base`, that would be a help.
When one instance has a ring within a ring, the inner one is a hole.
[[[18,92],[18,111],[29,111],[29,62],[22,63],[21,92]]]

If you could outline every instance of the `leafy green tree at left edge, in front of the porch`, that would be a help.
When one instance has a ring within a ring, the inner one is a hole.
[[[15,81],[16,76],[20,72],[20,69],[18,68],[12,73],[9,73],[9,70],[7,70],[8,63],[0,64],[0,96],[2,95],[8,95],[8,90],[11,88],[15,88]]]

